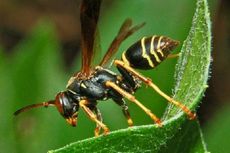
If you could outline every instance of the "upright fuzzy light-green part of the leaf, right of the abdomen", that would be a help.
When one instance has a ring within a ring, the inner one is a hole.
[[[193,25],[181,50],[175,72],[174,98],[195,109],[208,87],[211,62],[211,28],[206,0],[198,0]],[[165,118],[178,112],[178,107],[169,105]]]

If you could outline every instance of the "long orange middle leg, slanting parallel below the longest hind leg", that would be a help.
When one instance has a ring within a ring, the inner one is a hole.
[[[135,96],[133,96],[132,94],[126,92],[125,90],[123,90],[122,88],[120,88],[119,86],[117,86],[115,83],[111,82],[111,81],[106,81],[105,85],[107,87],[111,87],[113,88],[115,91],[117,91],[118,93],[120,93],[123,97],[127,98],[128,100],[130,100],[131,102],[134,102],[137,106],[139,106],[143,111],[145,111],[146,114],[148,114],[152,120],[154,120],[158,126],[162,126],[161,124],[161,120],[156,117],[156,115],[154,115],[151,110],[149,110],[148,108],[146,108],[142,103],[140,103]]]

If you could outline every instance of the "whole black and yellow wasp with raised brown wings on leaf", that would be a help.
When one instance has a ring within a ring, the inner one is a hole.
[[[126,19],[101,62],[96,67],[92,66],[95,46],[97,46],[97,23],[100,4],[101,0],[83,0],[81,3],[82,67],[79,72],[69,79],[66,90],[58,93],[54,100],[25,106],[17,110],[14,115],[36,107],[55,106],[70,125],[76,126],[78,110],[81,108],[96,123],[94,134],[98,136],[101,129],[103,129],[104,134],[108,134],[110,131],[102,122],[100,110],[97,108],[98,101],[112,99],[121,106],[128,125],[132,126],[133,121],[125,101],[127,99],[139,106],[158,126],[162,126],[161,120],[134,96],[137,89],[144,83],[153,88],[168,102],[180,107],[190,119],[194,119],[196,114],[188,107],[165,94],[150,78],[137,71],[137,69],[154,69],[165,59],[174,57],[175,54],[171,54],[171,51],[178,46],[178,41],[165,36],[143,37],[124,51],[121,59],[113,60],[113,64],[120,74],[116,74],[107,68],[120,44],[142,28],[144,23],[132,26],[131,19]]]

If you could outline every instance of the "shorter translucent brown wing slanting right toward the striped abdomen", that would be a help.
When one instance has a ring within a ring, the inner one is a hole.
[[[102,61],[100,62],[100,66],[105,66],[108,64],[112,56],[118,51],[118,48],[120,47],[121,43],[128,38],[130,35],[132,35],[135,31],[139,30],[141,27],[144,26],[145,23],[136,25],[134,27],[132,26],[132,20],[131,19],[126,19],[117,36],[114,38],[112,43],[109,46],[109,49],[107,50],[106,54],[104,55]]]

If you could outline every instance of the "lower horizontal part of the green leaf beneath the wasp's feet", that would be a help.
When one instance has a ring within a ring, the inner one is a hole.
[[[181,119],[177,118],[166,122],[163,128],[147,125],[118,130],[106,137],[86,139],[49,153],[159,151],[192,153],[194,149],[197,152],[205,152],[197,122],[188,121],[179,130],[180,124]]]

